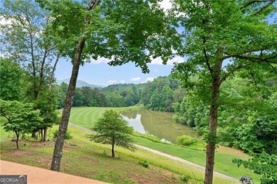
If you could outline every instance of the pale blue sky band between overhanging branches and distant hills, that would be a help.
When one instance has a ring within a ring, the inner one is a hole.
[[[183,58],[170,60],[167,65],[161,64],[161,59],[153,59],[152,64],[148,64],[149,74],[143,74],[140,67],[136,67],[133,62],[122,66],[109,66],[107,59],[92,60],[80,66],[78,79],[89,84],[108,86],[109,84],[139,84],[146,81],[153,81],[158,76],[168,76],[173,68],[173,62],[181,62]],[[72,64],[70,61],[60,59],[55,77],[58,80],[68,79],[71,76]]]

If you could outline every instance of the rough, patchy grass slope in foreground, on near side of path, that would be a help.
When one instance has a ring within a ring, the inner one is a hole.
[[[1,121],[1,124],[3,121]],[[49,137],[58,126],[53,127]],[[110,156],[109,145],[96,144],[85,138],[87,132],[69,126],[73,139],[66,140],[63,149],[61,172],[75,176],[103,180],[109,183],[202,183],[204,172],[178,161],[137,149],[135,152],[115,148],[116,158]],[[12,133],[1,127],[1,159],[29,166],[50,168],[54,142],[21,140],[20,149],[11,142]],[[149,168],[139,165],[147,160]],[[232,180],[214,177],[214,183],[236,183]]]

